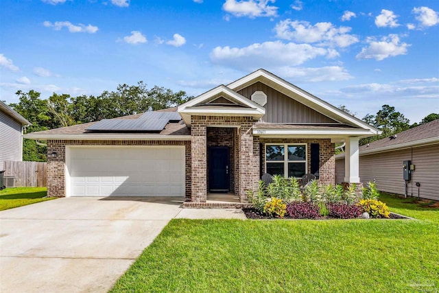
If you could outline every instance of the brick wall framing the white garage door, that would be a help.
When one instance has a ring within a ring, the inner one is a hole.
[[[185,145],[185,181],[186,197],[191,196],[191,142],[190,141],[47,141],[47,196],[64,197],[65,187],[65,154],[66,145]],[[51,153],[56,152],[56,158]]]

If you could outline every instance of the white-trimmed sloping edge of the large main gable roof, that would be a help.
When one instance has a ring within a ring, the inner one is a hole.
[[[370,126],[366,122],[345,113],[327,102],[324,102],[322,99],[311,95],[311,93],[298,88],[294,84],[279,78],[265,69],[258,69],[257,71],[244,76],[244,78],[239,78],[239,80],[228,84],[227,87],[233,91],[239,91],[255,82],[263,82],[264,84],[271,86],[273,89],[276,89],[276,91],[279,91],[292,99],[296,99],[296,101],[313,108],[313,110],[316,110],[341,124],[348,124],[369,130],[370,134],[381,133],[377,128]]]

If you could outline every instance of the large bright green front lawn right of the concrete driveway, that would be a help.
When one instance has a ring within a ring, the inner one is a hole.
[[[437,292],[439,209],[420,220],[172,220],[111,292]]]

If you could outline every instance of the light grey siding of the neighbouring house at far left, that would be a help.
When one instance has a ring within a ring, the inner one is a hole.
[[[4,161],[21,161],[21,124],[0,111],[0,171]]]

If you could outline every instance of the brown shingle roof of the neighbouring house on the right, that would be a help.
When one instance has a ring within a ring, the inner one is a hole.
[[[405,143],[411,143],[420,141],[423,139],[431,139],[437,137],[439,141],[439,119],[431,121],[429,123],[417,126],[415,128],[405,130],[403,132],[399,132],[396,134],[395,138],[385,137],[384,139],[380,139],[379,141],[373,141],[368,145],[362,145],[359,148],[359,152],[361,151],[370,151],[378,148],[385,148],[389,146],[398,146]]]

